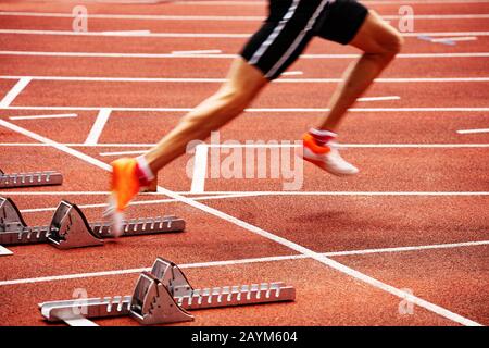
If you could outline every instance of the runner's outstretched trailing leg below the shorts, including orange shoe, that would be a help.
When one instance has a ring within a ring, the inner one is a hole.
[[[113,195],[109,212],[122,213],[141,187],[154,182],[160,169],[183,154],[190,141],[205,139],[241,113],[267,82],[260,70],[242,58],[236,59],[218,91],[185,115],[154,148],[137,159],[123,158],[111,163]]]

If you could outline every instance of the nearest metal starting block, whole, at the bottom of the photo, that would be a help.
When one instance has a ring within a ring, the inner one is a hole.
[[[296,288],[284,283],[193,289],[175,263],[158,258],[139,275],[133,296],[43,302],[39,310],[49,322],[130,316],[154,325],[192,321],[189,310],[294,300]]]

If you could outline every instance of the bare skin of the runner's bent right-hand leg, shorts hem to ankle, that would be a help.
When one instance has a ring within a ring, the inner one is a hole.
[[[336,132],[348,109],[399,53],[403,38],[377,13],[369,11],[350,45],[364,53],[344,72],[343,82],[333,95],[329,112],[318,129]]]

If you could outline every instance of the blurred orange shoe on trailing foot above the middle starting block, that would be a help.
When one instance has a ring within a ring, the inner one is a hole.
[[[137,159],[123,158],[115,160],[112,165],[111,196],[105,215],[112,220],[113,236],[123,233],[124,211],[130,200],[147,186],[141,175]]]

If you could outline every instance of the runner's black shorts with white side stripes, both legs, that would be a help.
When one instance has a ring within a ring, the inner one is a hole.
[[[268,0],[269,15],[241,51],[241,57],[277,78],[314,36],[349,44],[368,10],[355,0]]]

